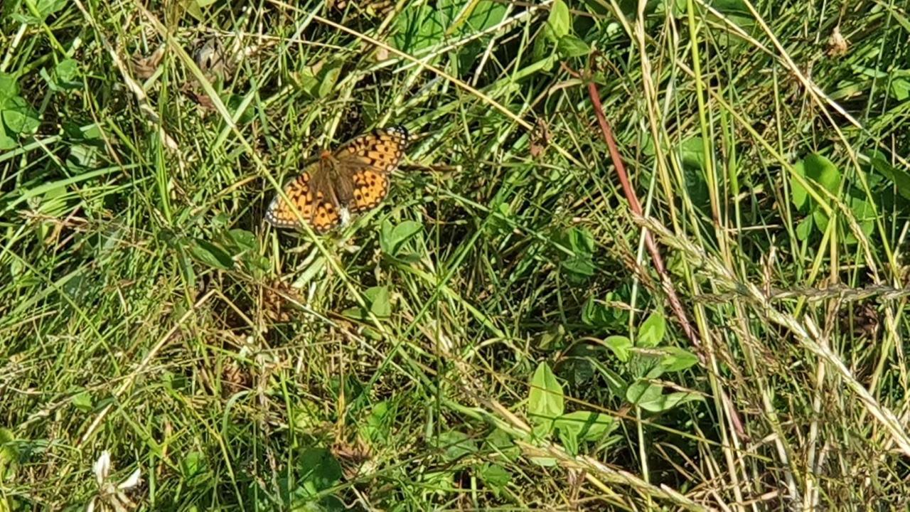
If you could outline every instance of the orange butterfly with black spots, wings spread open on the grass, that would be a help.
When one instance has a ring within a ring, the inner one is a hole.
[[[389,193],[389,173],[398,167],[408,143],[403,127],[379,128],[351,140],[334,153],[323,151],[284,188],[288,199],[318,233],[339,225],[346,212],[379,206]],[[268,205],[266,221],[276,228],[300,228],[298,216],[280,195]]]

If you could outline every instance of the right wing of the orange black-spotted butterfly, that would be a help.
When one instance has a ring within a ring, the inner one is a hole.
[[[408,142],[401,127],[373,130],[350,141],[335,154],[339,166],[339,193],[352,213],[379,205],[389,194],[389,173],[398,167]]]

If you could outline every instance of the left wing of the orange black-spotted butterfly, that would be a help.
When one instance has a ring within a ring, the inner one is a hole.
[[[300,211],[303,220],[308,221],[313,230],[323,233],[335,227],[341,218],[339,210],[329,198],[322,190],[314,187],[311,173],[315,170],[314,167],[303,171],[297,179],[285,186],[284,191],[288,200]],[[291,209],[291,203],[276,196],[268,205],[266,221],[276,228],[299,228],[300,222]]]

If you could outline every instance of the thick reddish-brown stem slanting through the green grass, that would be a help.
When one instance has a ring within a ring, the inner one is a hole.
[[[600,92],[597,90],[597,84],[595,84],[593,81],[588,82],[588,95],[591,96],[591,103],[594,106],[594,114],[597,115],[597,122],[601,125],[603,139],[607,142],[607,148],[610,148],[610,159],[612,159],[613,166],[616,168],[616,175],[619,176],[620,184],[622,185],[622,193],[625,195],[626,200],[629,201],[629,207],[632,209],[632,212],[636,215],[642,216],[642,203],[638,201],[638,197],[635,195],[635,190],[632,189],[632,184],[629,182],[629,175],[625,171],[625,166],[622,165],[622,157],[620,156],[619,149],[616,148],[616,141],[613,140],[613,132],[610,128],[610,123],[603,115]],[[667,274],[666,267],[663,266],[661,253],[657,250],[657,244],[654,243],[651,232],[648,230],[644,231],[644,243],[648,248],[648,252],[651,253],[651,259],[654,263],[654,268],[657,270],[658,275],[661,277],[661,286],[663,288],[663,292],[667,294],[667,300],[670,302],[670,308],[672,309],[673,314],[676,315],[676,320],[680,323],[682,332],[685,333],[687,338],[689,338],[689,342],[693,344],[693,347],[695,347],[698,353],[699,360],[702,364],[704,364],[704,354],[702,353],[701,343],[699,342],[700,336],[695,332],[692,323],[689,323],[689,318],[686,316],[685,311],[682,309],[682,303],[680,302],[679,297],[676,295],[676,290],[673,288],[673,283],[670,281],[670,276]]]

